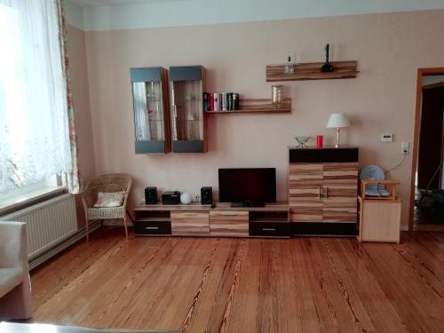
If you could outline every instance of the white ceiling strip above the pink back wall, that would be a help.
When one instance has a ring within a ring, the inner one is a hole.
[[[65,1],[69,24],[85,31],[444,10],[444,0]]]

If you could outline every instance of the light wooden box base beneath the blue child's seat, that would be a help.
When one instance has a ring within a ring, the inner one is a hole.
[[[359,242],[400,243],[400,200],[360,201]]]

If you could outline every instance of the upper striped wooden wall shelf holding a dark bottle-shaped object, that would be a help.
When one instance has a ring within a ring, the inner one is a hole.
[[[323,62],[295,64],[293,74],[284,74],[285,65],[267,65],[266,81],[350,79],[359,73],[357,61],[332,61],[333,72],[331,73],[321,73],[322,65]]]

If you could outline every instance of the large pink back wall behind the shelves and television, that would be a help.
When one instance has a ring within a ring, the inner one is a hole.
[[[131,174],[133,202],[140,202],[145,186],[197,194],[201,186],[218,187],[219,167],[275,167],[278,199],[285,200],[287,147],[296,134],[324,134],[332,143],[335,131],[325,125],[333,112],[350,115],[343,142],[360,147],[361,165],[390,169],[400,162],[400,142],[413,141],[416,69],[444,66],[436,39],[442,31],[444,11],[87,32],[95,170]],[[321,61],[326,43],[333,60],[359,61],[358,78],[285,83],[291,115],[210,116],[207,154],[134,154],[130,67],[201,64],[208,91],[267,98],[266,64],[282,63],[288,52],[297,61]],[[393,143],[379,142],[384,132],[394,133]],[[392,172],[401,182],[404,225],[411,163],[408,156]]]

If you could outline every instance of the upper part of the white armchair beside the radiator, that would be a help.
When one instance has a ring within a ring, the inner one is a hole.
[[[17,267],[28,272],[26,223],[0,221],[0,267]]]

